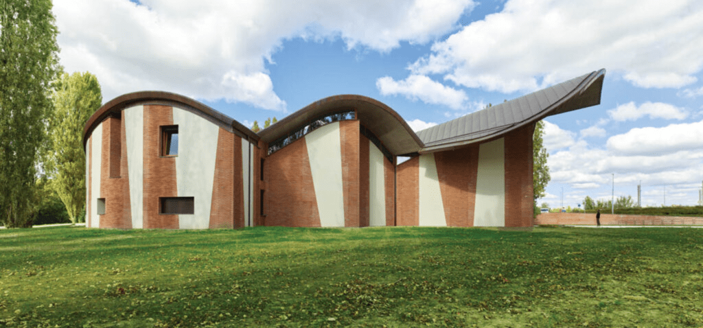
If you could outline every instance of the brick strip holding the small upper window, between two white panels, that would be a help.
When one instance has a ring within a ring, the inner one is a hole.
[[[177,197],[176,159],[161,157],[160,126],[173,125],[173,108],[144,106],[144,228],[178,229],[178,215],[159,214],[159,197]]]

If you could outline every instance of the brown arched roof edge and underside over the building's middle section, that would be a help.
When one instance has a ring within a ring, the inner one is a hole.
[[[258,134],[264,142],[271,143],[314,119],[340,110],[356,110],[356,119],[381,140],[393,155],[411,154],[423,147],[422,140],[400,114],[378,100],[359,95],[338,95],[317,100],[262,129]]]

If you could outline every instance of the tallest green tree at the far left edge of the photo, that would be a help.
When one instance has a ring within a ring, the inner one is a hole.
[[[58,72],[51,0],[0,2],[0,222],[32,224],[38,149]]]

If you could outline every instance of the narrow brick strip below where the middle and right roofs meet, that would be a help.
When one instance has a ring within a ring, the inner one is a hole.
[[[398,198],[396,224],[420,225],[420,157],[413,157],[396,167]]]

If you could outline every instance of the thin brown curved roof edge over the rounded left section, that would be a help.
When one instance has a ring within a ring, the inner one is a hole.
[[[233,133],[238,132],[247,138],[259,140],[259,136],[243,124],[240,124],[231,117],[228,117],[227,115],[222,114],[221,112],[218,112],[203,103],[200,103],[198,100],[193,100],[192,98],[181,96],[177,93],[165,91],[138,91],[126,93],[108,101],[91,115],[83,129],[83,149],[85,150],[88,136],[93,133],[93,129],[95,129],[98,124],[103,122],[103,120],[111,115],[118,114],[125,108],[137,105],[175,105],[183,110],[193,112],[193,114],[197,114],[198,116],[221,126],[227,131]]]

